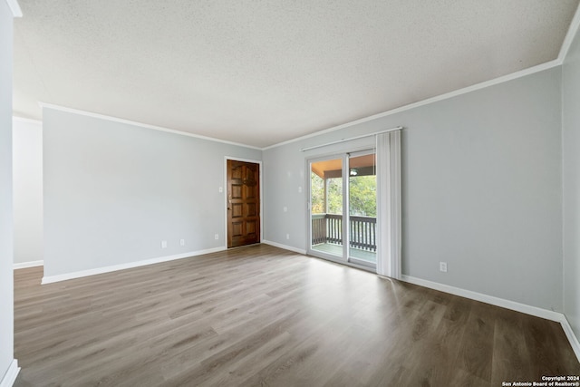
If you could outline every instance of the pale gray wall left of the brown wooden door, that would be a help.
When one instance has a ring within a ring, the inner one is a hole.
[[[43,150],[44,276],[226,246],[224,158],[261,159],[260,150],[48,108]]]

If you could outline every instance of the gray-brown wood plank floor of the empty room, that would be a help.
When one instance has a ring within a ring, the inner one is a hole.
[[[266,245],[39,285],[15,386],[500,386],[579,375],[560,324]]]

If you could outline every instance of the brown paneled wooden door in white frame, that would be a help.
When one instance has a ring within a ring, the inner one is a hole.
[[[227,160],[227,247],[260,242],[260,166]]]

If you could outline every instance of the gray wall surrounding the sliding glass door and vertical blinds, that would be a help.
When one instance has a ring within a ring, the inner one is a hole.
[[[333,150],[299,149],[402,125],[403,274],[562,312],[560,76],[546,70],[266,150],[265,239],[306,248],[304,159]]]

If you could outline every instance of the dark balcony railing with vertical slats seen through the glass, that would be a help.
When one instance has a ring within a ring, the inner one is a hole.
[[[350,247],[376,251],[377,218],[349,217]],[[312,216],[312,245],[323,243],[343,244],[343,216],[314,214]]]

